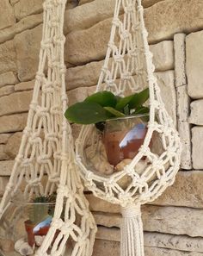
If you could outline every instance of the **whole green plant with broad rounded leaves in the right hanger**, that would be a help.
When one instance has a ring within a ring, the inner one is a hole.
[[[149,113],[149,108],[144,106],[148,98],[148,88],[127,97],[100,91],[87,97],[82,103],[72,105],[65,111],[65,117],[69,122],[95,123],[97,128],[102,129],[102,122],[108,119]]]

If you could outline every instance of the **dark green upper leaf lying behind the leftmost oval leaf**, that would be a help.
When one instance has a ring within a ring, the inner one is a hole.
[[[84,102],[97,103],[102,107],[114,107],[117,103],[116,97],[110,91],[99,91],[87,97]]]

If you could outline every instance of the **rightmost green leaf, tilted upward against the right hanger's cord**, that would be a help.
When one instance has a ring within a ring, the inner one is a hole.
[[[132,96],[132,99],[129,102],[130,109],[138,109],[142,106],[150,97],[149,88],[146,88],[144,91],[140,91]]]

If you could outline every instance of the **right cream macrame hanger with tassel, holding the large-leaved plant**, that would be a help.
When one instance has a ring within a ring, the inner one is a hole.
[[[88,154],[85,153],[89,145],[92,147],[90,153],[98,151],[101,145],[94,125],[83,126],[76,150],[77,163],[88,189],[95,197],[121,206],[122,256],[144,256],[140,205],[153,201],[173,184],[180,165],[180,139],[160,97],[154,70],[141,0],[116,0],[107,55],[96,91],[113,91],[123,96],[149,86],[151,109],[148,131],[144,144],[131,164],[108,177],[89,167]],[[163,153],[151,151],[150,143],[154,134],[160,137]],[[136,170],[143,158],[147,159],[148,164],[138,174]],[[120,186],[123,178],[131,179],[126,188]]]

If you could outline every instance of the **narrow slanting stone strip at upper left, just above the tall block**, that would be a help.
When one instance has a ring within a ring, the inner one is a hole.
[[[0,43],[9,41],[26,29],[31,29],[38,26],[42,22],[42,15],[33,15],[23,18],[20,22],[15,23],[14,26],[0,30]]]

